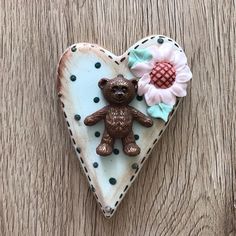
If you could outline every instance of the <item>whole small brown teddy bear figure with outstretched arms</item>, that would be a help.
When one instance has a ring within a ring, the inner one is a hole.
[[[136,96],[137,83],[136,79],[128,80],[123,75],[118,75],[110,80],[103,78],[98,82],[98,86],[109,105],[87,116],[84,120],[84,124],[87,126],[95,125],[98,121],[104,120],[105,130],[101,143],[96,149],[98,155],[110,155],[116,138],[121,138],[123,151],[128,156],[136,156],[140,153],[132,130],[133,120],[146,127],[151,127],[153,121],[128,105]]]

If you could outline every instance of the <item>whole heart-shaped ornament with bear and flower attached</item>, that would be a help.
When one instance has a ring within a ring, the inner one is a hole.
[[[102,212],[111,217],[186,96],[183,49],[154,35],[116,56],[95,44],[68,48],[58,96],[72,143]]]

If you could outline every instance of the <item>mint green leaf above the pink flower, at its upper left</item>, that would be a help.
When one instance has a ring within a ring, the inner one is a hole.
[[[131,68],[138,62],[150,61],[152,54],[147,49],[133,49],[130,51],[128,67]]]

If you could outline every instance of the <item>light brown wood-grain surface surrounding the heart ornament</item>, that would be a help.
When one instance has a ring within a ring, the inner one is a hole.
[[[236,235],[235,1],[0,4],[0,235]],[[74,42],[121,54],[149,34],[184,47],[193,80],[107,220],[71,145],[56,66]]]

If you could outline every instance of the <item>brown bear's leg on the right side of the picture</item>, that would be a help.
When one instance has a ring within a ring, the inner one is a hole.
[[[128,156],[137,156],[140,153],[140,147],[135,143],[133,131],[122,138],[124,153]]]

